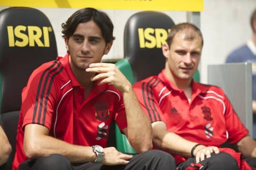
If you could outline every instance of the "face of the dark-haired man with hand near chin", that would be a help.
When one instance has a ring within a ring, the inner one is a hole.
[[[93,20],[79,23],[74,34],[69,39],[65,37],[72,70],[85,70],[90,63],[100,62],[102,56],[108,54],[112,42],[106,45],[101,29]]]

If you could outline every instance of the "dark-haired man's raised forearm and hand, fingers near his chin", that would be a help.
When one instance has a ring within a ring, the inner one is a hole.
[[[122,131],[137,153],[150,150],[152,148],[151,123],[140,107],[128,79],[116,65],[111,63],[92,63],[86,71],[98,73],[92,81],[101,80],[99,85],[110,83],[122,93],[127,119],[127,128]]]

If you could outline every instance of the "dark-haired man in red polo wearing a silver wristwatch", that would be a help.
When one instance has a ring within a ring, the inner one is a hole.
[[[108,15],[83,8],[62,28],[68,53],[37,68],[23,89],[13,169],[175,169],[169,154],[147,151],[151,124],[131,84],[100,62],[114,40]],[[112,120],[140,154],[106,147]]]

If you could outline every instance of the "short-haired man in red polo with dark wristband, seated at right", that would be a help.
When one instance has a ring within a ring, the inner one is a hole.
[[[172,153],[178,170],[250,169],[240,153],[220,148],[229,142],[243,156],[256,157],[256,142],[247,136],[224,92],[192,79],[202,47],[203,36],[196,26],[174,26],[162,47],[163,71],[134,85],[151,120],[154,147]]]

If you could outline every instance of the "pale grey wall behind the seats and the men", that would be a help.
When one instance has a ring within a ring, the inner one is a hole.
[[[167,4],[171,5],[171,4]],[[7,8],[0,6],[0,10]],[[256,8],[256,0],[204,0],[201,12],[201,31],[204,36],[204,48],[201,59],[201,82],[207,83],[207,65],[224,63],[231,50],[250,39],[252,31],[249,17]],[[77,9],[73,8],[38,8],[47,15],[52,23],[57,40],[58,55],[66,53],[61,37],[61,23]],[[119,60],[123,56],[123,31],[128,18],[138,12],[135,10],[103,10],[111,17],[116,40],[111,52],[102,60]],[[175,23],[186,22],[185,11],[162,11]]]

